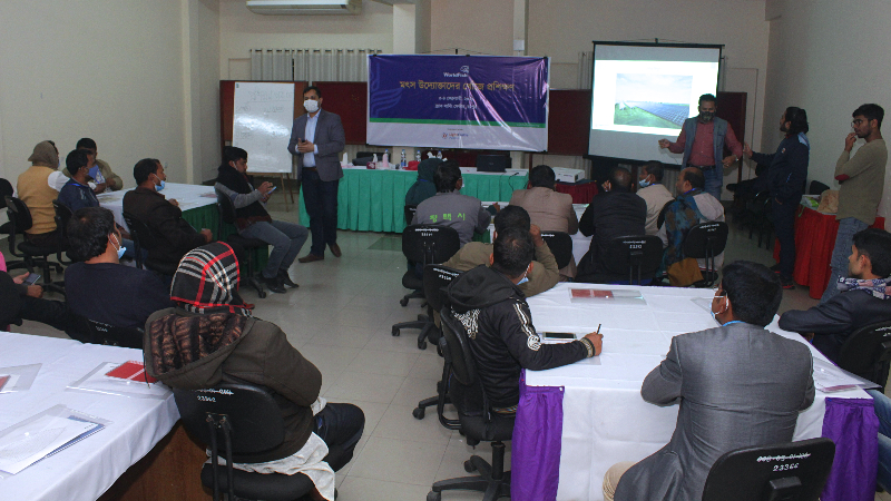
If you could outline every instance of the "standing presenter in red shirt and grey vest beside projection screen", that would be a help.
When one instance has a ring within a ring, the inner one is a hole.
[[[721,200],[724,187],[724,167],[730,167],[743,156],[743,145],[733,134],[727,120],[715,117],[717,106],[715,96],[699,96],[699,115],[684,120],[677,141],[659,139],[659,148],[668,148],[674,154],[684,154],[683,167],[698,167],[705,174],[705,191]],[[724,146],[733,153],[718,165]],[[683,168],[682,167],[682,168]]]

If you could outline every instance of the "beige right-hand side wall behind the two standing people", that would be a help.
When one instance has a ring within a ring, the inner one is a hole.
[[[851,131],[851,112],[864,102],[875,102],[891,111],[891,2],[771,0],[767,12],[774,20],[764,144],[775,148],[782,139],[776,124],[787,106],[804,108],[811,126],[807,178],[838,189],[833,179],[835,160]],[[885,125],[884,129],[889,127]],[[765,150],[770,147],[765,146]],[[891,216],[888,174],[880,213]]]

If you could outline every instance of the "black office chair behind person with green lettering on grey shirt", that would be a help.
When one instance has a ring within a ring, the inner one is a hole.
[[[454,255],[461,248],[461,240],[458,232],[448,226],[437,225],[411,225],[402,230],[402,254],[411,263],[427,266],[429,264],[442,263]],[[423,278],[419,278],[415,269],[409,269],[402,275],[402,286],[415,292],[424,288]],[[405,306],[412,297],[423,297],[423,294],[408,294],[399,301]],[[427,315],[418,315],[418,321],[401,322],[393,325],[392,334],[398,336],[402,328],[423,330],[432,318]],[[422,344],[419,338],[418,347],[424,350],[427,343]]]

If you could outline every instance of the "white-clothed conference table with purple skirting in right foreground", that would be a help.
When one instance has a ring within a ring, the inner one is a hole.
[[[609,289],[615,297],[572,303],[570,288]],[[527,299],[538,332],[585,334],[603,325],[604,352],[564,367],[525,371],[511,499],[601,500],[609,466],[640,461],[668,443],[678,405],[646,403],[640,386],[664,360],[673,336],[717,326],[708,313],[713,296],[712,289],[558,284]],[[768,328],[806,344],[775,321]],[[825,361],[807,346],[814,358]],[[824,501],[872,500],[850,491],[854,482],[860,492],[874,493],[877,433],[872,400],[864,391],[816,391],[813,405],[799,415],[794,440],[829,436],[836,443]]]

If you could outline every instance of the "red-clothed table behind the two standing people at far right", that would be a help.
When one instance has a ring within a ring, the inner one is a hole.
[[[871,228],[884,229],[884,217],[875,217]],[[834,214],[820,213],[800,206],[795,218],[795,269],[792,278],[799,285],[810,287],[807,295],[819,299],[832,275],[830,264],[835,248],[839,222]],[[773,257],[780,262],[780,240],[773,248]]]

